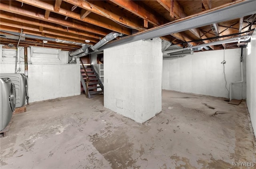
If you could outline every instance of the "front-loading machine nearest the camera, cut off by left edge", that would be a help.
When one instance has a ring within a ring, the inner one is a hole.
[[[6,128],[15,110],[15,85],[7,78],[0,78],[0,130]]]

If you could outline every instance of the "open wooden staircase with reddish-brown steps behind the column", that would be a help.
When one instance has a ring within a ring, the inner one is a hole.
[[[84,65],[81,59],[80,63],[81,83],[84,88],[86,97],[91,98],[91,95],[103,93],[104,86],[93,65]],[[99,88],[100,91],[97,91]]]

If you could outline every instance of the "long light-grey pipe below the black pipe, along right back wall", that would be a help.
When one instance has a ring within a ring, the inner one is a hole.
[[[244,39],[242,39],[242,38],[244,38]],[[233,43],[233,42],[237,42],[238,40],[239,41],[248,41],[249,39],[250,39],[249,35],[243,35],[243,36],[240,36],[240,37],[232,37],[232,38],[224,39],[224,40],[220,40],[220,41],[204,43],[204,44],[201,44],[201,45],[185,47],[185,48],[180,48],[180,49],[170,50],[170,51],[164,51],[163,55],[168,54],[168,53],[172,53],[172,52],[183,51],[183,50],[187,50],[187,49],[194,49],[194,48],[197,48],[197,47],[205,47],[205,46],[210,46],[210,45],[220,45],[220,44],[223,44],[223,43]]]

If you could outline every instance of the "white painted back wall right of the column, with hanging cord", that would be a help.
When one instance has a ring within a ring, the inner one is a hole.
[[[228,90],[230,90],[230,82],[241,81],[240,56],[241,49],[225,50]],[[197,52],[178,59],[163,60],[162,88],[228,98],[221,64],[223,57],[224,50],[215,50]],[[232,98],[246,98],[245,65],[243,62],[244,82],[232,85]]]

